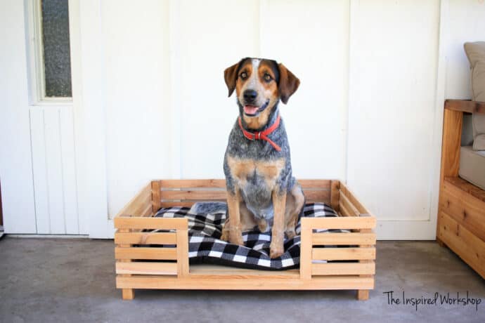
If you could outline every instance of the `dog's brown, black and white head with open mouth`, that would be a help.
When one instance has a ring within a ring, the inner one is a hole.
[[[281,99],[287,103],[299,79],[275,60],[243,58],[224,70],[229,96],[235,89],[245,119],[264,117]]]

